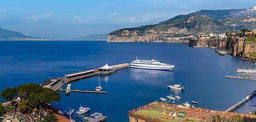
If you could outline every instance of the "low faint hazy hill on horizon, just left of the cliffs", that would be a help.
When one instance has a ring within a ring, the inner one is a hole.
[[[94,34],[86,37],[74,38],[74,40],[106,40],[109,34]]]

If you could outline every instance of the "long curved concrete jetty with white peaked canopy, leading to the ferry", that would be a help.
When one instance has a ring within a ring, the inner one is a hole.
[[[113,65],[110,67],[111,67],[111,69],[96,68],[96,69],[66,74],[64,77],[60,77],[57,80],[51,82],[50,84],[48,84],[44,87],[48,87],[53,90],[58,90],[58,89],[60,89],[60,87],[62,87],[66,83],[76,81],[76,80],[81,80],[81,79],[88,78],[88,77],[92,77],[92,76],[95,76],[98,74],[104,74],[104,75],[111,74],[118,70],[130,68],[130,65],[129,65],[129,63],[125,63],[125,64]]]

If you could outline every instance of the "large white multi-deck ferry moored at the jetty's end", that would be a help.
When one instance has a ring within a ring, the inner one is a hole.
[[[172,70],[175,66],[166,63],[160,63],[155,59],[152,60],[140,60],[136,57],[136,60],[130,63],[131,68],[151,69],[151,70]]]

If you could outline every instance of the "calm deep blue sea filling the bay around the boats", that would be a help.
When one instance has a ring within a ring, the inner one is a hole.
[[[256,88],[256,81],[227,79],[225,75],[241,75],[237,68],[253,68],[253,63],[220,56],[214,49],[192,48],[175,43],[106,43],[105,41],[0,41],[0,91],[24,83],[38,83],[83,71],[140,59],[157,59],[173,64],[172,71],[125,69],[101,75],[103,91],[108,94],[61,94],[52,103],[62,112],[90,107],[90,113],[103,113],[107,121],[129,121],[127,111],[160,101],[160,97],[179,95],[181,100],[197,101],[201,108],[225,110]],[[256,74],[251,74],[256,77]],[[72,82],[72,89],[95,90],[98,76]],[[183,92],[167,89],[167,85],[182,84]],[[63,86],[66,87],[66,86]],[[5,101],[0,98],[1,101]],[[256,97],[235,112],[255,110]],[[74,119],[74,115],[73,119]],[[77,121],[82,121],[76,115]]]

